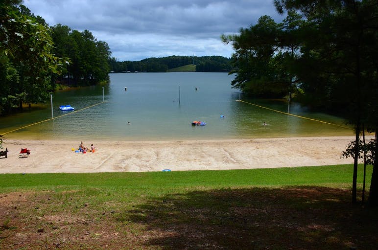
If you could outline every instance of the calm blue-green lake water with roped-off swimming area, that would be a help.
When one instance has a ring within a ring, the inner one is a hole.
[[[351,129],[343,128],[346,127],[343,119],[310,113],[296,104],[291,105],[291,114],[339,126],[238,102],[239,91],[230,84],[233,78],[227,73],[201,72],[110,74],[111,83],[104,87],[104,103],[102,86],[58,91],[53,95],[53,120],[47,120],[51,118],[50,103],[47,103],[39,110],[0,118],[0,134],[6,133],[4,136],[9,139],[76,140],[353,135]],[[241,97],[250,103],[287,112],[287,103],[283,101]],[[60,105],[67,104],[77,112],[59,110]],[[193,127],[194,120],[207,125]],[[7,133],[40,121],[44,122]],[[264,121],[268,125],[262,125]]]

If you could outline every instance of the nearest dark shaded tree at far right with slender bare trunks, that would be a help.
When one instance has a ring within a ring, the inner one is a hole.
[[[275,0],[276,8],[299,11],[301,57],[296,75],[305,95],[319,98],[331,110],[345,110],[355,125],[352,202],[356,202],[357,159],[361,128],[377,131],[377,29],[376,0]],[[310,99],[311,100],[311,99]],[[376,142],[375,142],[376,143]],[[377,147],[377,146],[376,146]],[[377,151],[375,151],[377,152]],[[376,153],[374,153],[376,154]],[[375,156],[374,158],[376,158]],[[377,161],[373,164],[369,203],[378,204]]]

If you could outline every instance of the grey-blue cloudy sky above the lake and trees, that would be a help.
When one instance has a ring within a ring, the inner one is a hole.
[[[273,0],[24,0],[52,26],[92,32],[118,61],[149,57],[231,57],[221,34],[237,34],[260,16],[277,14]]]

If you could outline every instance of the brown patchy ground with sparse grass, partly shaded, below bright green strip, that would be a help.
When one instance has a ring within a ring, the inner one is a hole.
[[[189,191],[135,205],[83,202],[75,192],[0,197],[4,250],[362,250],[378,244],[378,210],[352,205],[350,190],[328,187]]]

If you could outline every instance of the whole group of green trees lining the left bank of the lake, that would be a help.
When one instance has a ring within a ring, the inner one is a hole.
[[[88,30],[49,27],[21,4],[0,1],[0,115],[45,102],[57,83],[109,80],[110,50]]]

